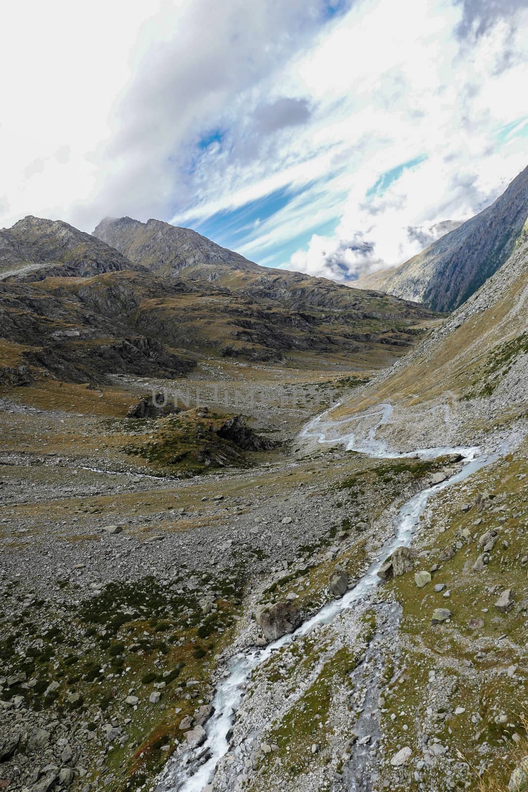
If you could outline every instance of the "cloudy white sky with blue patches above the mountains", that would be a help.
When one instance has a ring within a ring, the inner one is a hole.
[[[528,0],[18,0],[0,227],[188,226],[351,282],[528,165]]]

